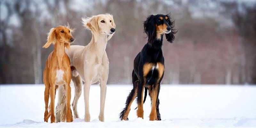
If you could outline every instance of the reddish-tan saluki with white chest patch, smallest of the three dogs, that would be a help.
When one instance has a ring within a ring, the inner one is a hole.
[[[65,47],[69,48],[70,43],[75,39],[71,35],[73,29],[65,26],[58,26],[52,28],[48,33],[47,42],[44,44],[44,48],[49,47],[51,44],[54,44],[54,50],[48,56],[44,68],[44,102],[45,102],[45,112],[44,112],[44,121],[48,122],[49,117],[51,116],[51,123],[55,122],[54,116],[54,101],[55,101],[55,92],[58,87],[63,86],[66,90],[66,100],[63,108],[62,117],[63,120],[66,118],[67,122],[72,122],[72,112],[70,109],[70,98],[71,98],[71,88],[69,86],[71,81],[71,70],[70,70],[70,60],[68,55],[65,53]],[[65,86],[65,87],[64,87]],[[65,92],[63,92],[65,94]],[[50,103],[50,113],[48,113],[48,103],[49,95],[51,97]],[[60,101],[59,101],[60,102]],[[58,119],[57,119],[58,120]]]

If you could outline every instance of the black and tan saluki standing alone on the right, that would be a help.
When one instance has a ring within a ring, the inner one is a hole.
[[[149,120],[161,120],[159,113],[159,90],[160,83],[164,76],[164,56],[162,53],[163,36],[165,34],[168,42],[172,43],[174,34],[177,33],[174,21],[169,14],[150,15],[144,21],[144,32],[148,36],[148,43],[134,59],[132,71],[133,89],[126,100],[126,106],[120,113],[121,120],[128,120],[133,100],[137,96],[137,116],[143,118],[143,103],[146,100],[147,90],[151,98],[151,113]],[[143,92],[145,88],[144,101]]]

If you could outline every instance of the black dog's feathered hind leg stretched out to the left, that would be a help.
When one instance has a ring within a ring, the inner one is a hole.
[[[138,77],[136,76],[136,74],[134,73],[134,71],[132,71],[132,84],[133,84],[133,89],[126,99],[125,108],[119,114],[119,118],[121,120],[128,120],[128,115],[131,110],[132,102],[137,96],[137,88],[138,88],[139,80],[138,80]]]

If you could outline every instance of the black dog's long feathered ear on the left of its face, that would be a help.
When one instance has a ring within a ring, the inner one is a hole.
[[[155,17],[154,15],[150,15],[147,17],[147,20],[144,21],[144,33],[147,34],[149,44],[152,44],[156,37],[156,27],[154,25],[154,17]]]

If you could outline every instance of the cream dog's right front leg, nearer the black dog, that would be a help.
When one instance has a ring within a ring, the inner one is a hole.
[[[100,80],[100,115],[99,120],[104,122],[104,108],[105,108],[105,99],[107,92],[107,80]]]

